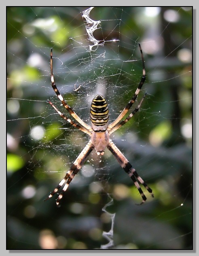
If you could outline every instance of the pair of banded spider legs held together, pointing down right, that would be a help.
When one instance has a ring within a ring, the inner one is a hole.
[[[107,148],[110,150],[110,152],[114,155],[116,160],[119,162],[121,167],[125,170],[125,172],[129,175],[131,180],[133,180],[135,187],[138,189],[140,195],[142,196],[142,202],[143,204],[146,201],[146,196],[144,195],[140,185],[138,184],[137,180],[146,188],[146,190],[151,194],[152,197],[154,197],[152,193],[152,189],[148,187],[146,182],[142,180],[142,178],[138,175],[138,173],[135,171],[135,169],[132,167],[132,165],[129,163],[127,158],[122,154],[122,152],[119,150],[119,148],[116,147],[116,145],[112,142],[112,140],[109,140],[109,143],[107,145]],[[137,180],[136,180],[137,178]]]

